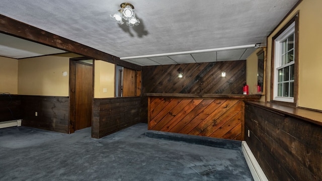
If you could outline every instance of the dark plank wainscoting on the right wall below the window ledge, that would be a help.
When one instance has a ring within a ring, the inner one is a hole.
[[[245,130],[269,180],[322,180],[322,126],[246,103]]]

